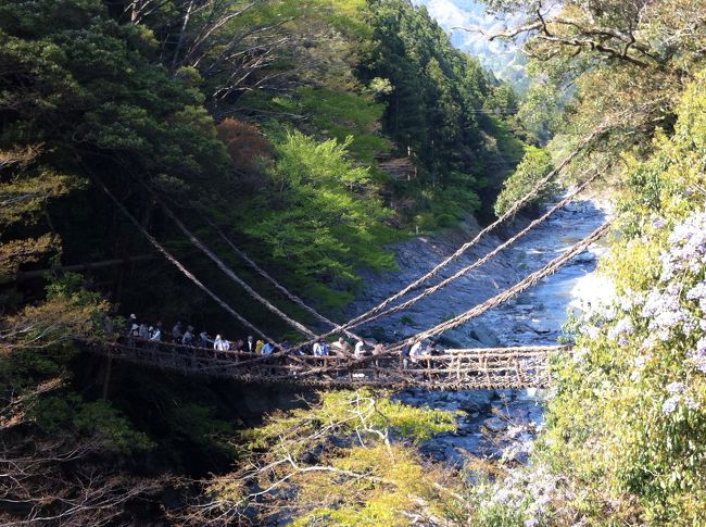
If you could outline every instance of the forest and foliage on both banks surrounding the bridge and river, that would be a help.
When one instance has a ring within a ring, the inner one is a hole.
[[[703,519],[703,2],[486,3],[522,13],[492,36],[519,38],[529,57],[521,98],[405,0],[0,4],[3,522]],[[620,298],[575,322],[583,351],[556,364],[527,472],[494,466],[469,486],[430,466],[414,446],[453,418],[370,392],[322,396],[236,434],[255,424],[232,414],[248,387],[111,374],[76,347],[100,346],[130,312],[244,331],[142,229],[255,325],[294,338],[165,206],[277,308],[307,319],[219,231],[336,317],[360,269],[394,269],[390,242],[487,222],[596,127],[563,183],[600,171],[618,204],[604,267]],[[319,463],[333,468],[306,469]],[[281,493],[253,498],[273,478]]]

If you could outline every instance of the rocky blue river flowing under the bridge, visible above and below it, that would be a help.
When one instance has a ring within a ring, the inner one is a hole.
[[[595,201],[570,203],[484,266],[409,310],[364,327],[363,332],[388,342],[395,341],[464,312],[542,267],[598,227],[606,214],[606,209]],[[512,235],[527,221],[517,218],[504,233],[484,238],[437,279],[481,258],[502,243],[503,236]],[[351,306],[348,315],[361,313],[402,289],[470,239],[478,229],[478,225],[468,223],[449,233],[417,237],[398,244],[394,249],[400,272],[367,275],[366,293]],[[441,336],[439,343],[442,348],[556,343],[569,308],[581,309],[596,297],[609,293],[608,285],[594,273],[597,256],[603,251],[602,244],[594,244],[525,293]],[[465,455],[472,454],[521,462],[543,423],[542,393],[538,390],[408,389],[396,398],[412,405],[458,411],[455,434],[439,435],[421,447],[424,453],[437,461],[461,463]]]

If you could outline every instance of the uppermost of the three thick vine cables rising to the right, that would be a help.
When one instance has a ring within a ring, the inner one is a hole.
[[[496,228],[500,224],[505,222],[507,218],[512,217],[521,206],[526,205],[532,198],[537,196],[537,193],[549,183],[551,181],[557,174],[559,174],[573,159],[581,153],[593,140],[595,140],[597,137],[603,135],[610,126],[608,124],[603,124],[595,128],[589,136],[587,136],[584,139],[581,140],[581,142],[571,151],[569,155],[567,155],[559,165],[551,171],[546,176],[544,176],[542,179],[540,179],[537,185],[528,192],[526,193],[521,199],[516,201],[505,213],[500,216],[495,222],[483,228],[480,233],[478,233],[470,241],[464,243],[453,254],[444,259],[441,263],[439,263],[437,266],[434,266],[431,271],[423,275],[421,277],[417,278],[414,280],[412,284],[407,285],[404,287],[402,290],[399,292],[392,294],[391,297],[387,298],[382,302],[380,302],[378,305],[369,309],[365,313],[362,313],[361,315],[355,316],[351,321],[346,322],[345,324],[339,325],[336,328],[331,329],[330,331],[323,334],[319,336],[319,338],[326,338],[331,335],[335,335],[337,332],[344,331],[345,329],[349,329],[351,327],[355,327],[360,325],[358,323],[364,323],[366,322],[369,317],[371,317],[374,314],[379,313],[380,311],[384,310],[388,305],[390,305],[392,302],[395,300],[404,297],[407,294],[409,291],[416,289],[419,287],[421,284],[427,281],[428,279],[434,277],[439,272],[449,265],[451,262],[455,261],[458,259],[461,255],[463,255],[468,249],[471,247],[476,246],[480,239],[486,236],[488,233]],[[306,346],[308,342],[300,344],[300,347]]]

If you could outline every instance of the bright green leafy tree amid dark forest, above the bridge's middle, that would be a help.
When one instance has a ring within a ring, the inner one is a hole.
[[[369,171],[346,158],[351,140],[318,142],[299,131],[276,139],[267,168],[274,188],[251,204],[255,216],[241,219],[243,230],[300,284],[323,280],[341,290],[339,303],[358,283],[357,267],[394,268],[392,253],[382,249],[391,238],[381,226],[389,212],[375,196]]]

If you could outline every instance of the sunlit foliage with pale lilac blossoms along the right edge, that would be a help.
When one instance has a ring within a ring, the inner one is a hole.
[[[705,276],[701,253],[683,249],[706,201],[693,191],[706,183],[705,78],[685,91],[672,137],[628,162],[604,264],[618,298],[577,324],[575,356],[556,365],[540,455],[581,488],[570,507],[596,523],[693,525],[706,512]]]

